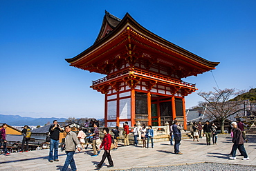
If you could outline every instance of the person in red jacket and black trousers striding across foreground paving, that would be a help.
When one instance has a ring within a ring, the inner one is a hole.
[[[111,147],[112,140],[111,140],[111,134],[109,134],[109,128],[103,128],[103,133],[105,135],[100,145],[100,149],[104,147],[104,154],[102,156],[100,163],[98,163],[98,165],[95,166],[98,169],[102,167],[102,164],[104,163],[106,157],[107,157],[107,160],[109,161],[109,165],[107,167],[108,168],[113,167],[113,161],[110,155],[110,147]]]

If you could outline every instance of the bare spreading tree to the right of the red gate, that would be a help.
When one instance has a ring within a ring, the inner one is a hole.
[[[221,133],[224,133],[224,122],[230,117],[232,114],[239,112],[240,110],[244,110],[243,102],[239,101],[229,101],[230,99],[237,97],[239,94],[244,93],[244,90],[235,90],[232,89],[224,89],[220,90],[214,88],[214,92],[199,92],[198,95],[203,97],[205,100],[204,105],[206,106],[206,110],[210,117],[213,119],[217,119],[221,124]]]

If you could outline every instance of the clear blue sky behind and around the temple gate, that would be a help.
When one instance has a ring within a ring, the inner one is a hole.
[[[68,66],[89,48],[104,10],[126,12],[158,36],[209,61],[219,88],[256,86],[256,1],[0,0],[0,114],[22,117],[104,116],[104,95],[89,88],[104,75]],[[211,72],[183,79],[199,91],[217,87]],[[202,101],[196,92],[186,108]]]

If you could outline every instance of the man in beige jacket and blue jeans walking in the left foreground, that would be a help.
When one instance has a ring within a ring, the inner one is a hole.
[[[74,154],[77,147],[77,150],[81,151],[81,145],[77,139],[75,132],[71,131],[69,125],[65,126],[66,138],[65,138],[65,152],[66,152],[66,161],[63,165],[62,171],[68,169],[68,165],[71,166],[71,170],[77,170],[75,165]]]

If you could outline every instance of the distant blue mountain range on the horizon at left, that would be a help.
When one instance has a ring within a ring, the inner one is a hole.
[[[33,117],[21,117],[19,115],[4,115],[0,114],[0,123],[7,123],[11,126],[22,126],[22,125],[44,125],[46,123],[53,123],[53,120],[58,122],[66,121],[66,118],[33,118]]]

